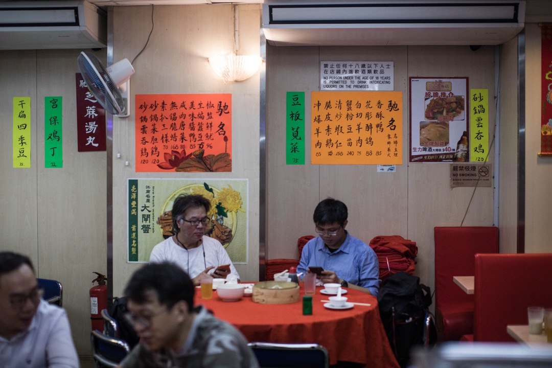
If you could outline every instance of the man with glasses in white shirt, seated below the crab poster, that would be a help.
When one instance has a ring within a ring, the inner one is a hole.
[[[210,207],[209,200],[201,195],[179,195],[171,210],[174,235],[153,247],[150,262],[176,263],[196,286],[201,276],[208,273],[219,279],[231,274],[239,280],[240,275],[222,244],[204,234],[210,221],[207,217]],[[230,269],[215,269],[228,264]]]

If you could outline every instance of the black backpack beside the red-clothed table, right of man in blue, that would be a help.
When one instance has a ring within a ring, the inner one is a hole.
[[[427,309],[431,305],[431,290],[420,284],[417,276],[399,272],[389,276],[380,287],[378,303],[391,349],[404,368],[410,362],[413,346],[435,343],[437,332],[434,324],[429,326],[431,331],[426,331],[426,322],[431,320]],[[428,336],[431,337],[429,341]]]

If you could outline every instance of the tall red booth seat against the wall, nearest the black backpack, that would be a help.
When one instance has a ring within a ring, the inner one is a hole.
[[[453,276],[473,276],[476,253],[498,252],[498,228],[435,227],[435,314],[439,341],[473,333],[474,296],[454,284]]]

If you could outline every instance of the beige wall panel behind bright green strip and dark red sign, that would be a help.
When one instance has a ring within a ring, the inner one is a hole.
[[[39,276],[60,280],[63,307],[80,354],[90,350],[88,290],[106,274],[106,152],[78,152],[75,73],[81,50],[38,54]],[[99,52],[105,60],[105,50]],[[63,97],[63,168],[44,168],[44,97]]]

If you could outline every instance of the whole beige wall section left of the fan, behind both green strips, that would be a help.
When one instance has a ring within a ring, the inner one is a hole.
[[[77,152],[77,56],[81,50],[0,52],[0,250],[28,255],[37,276],[63,285],[79,355],[90,354],[88,290],[106,273],[106,157]],[[105,61],[105,50],[99,52]],[[63,167],[45,168],[44,97],[61,96]],[[13,97],[31,97],[31,167],[12,166]]]

